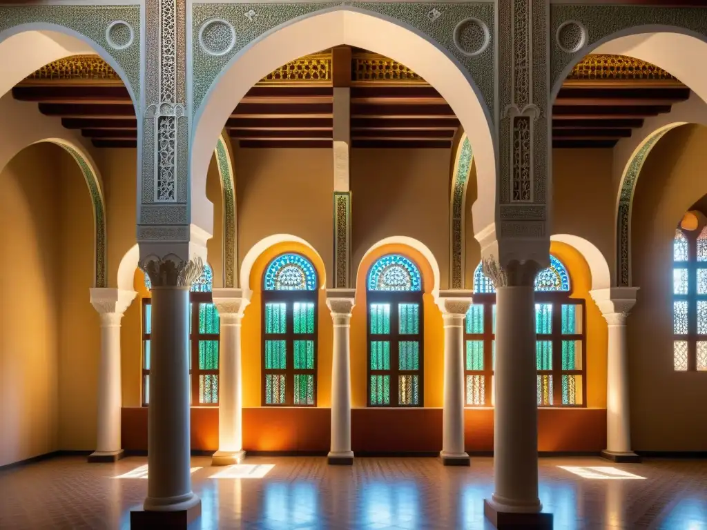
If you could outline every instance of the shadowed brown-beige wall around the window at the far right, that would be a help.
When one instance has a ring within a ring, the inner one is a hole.
[[[707,373],[675,372],[672,361],[672,239],[677,223],[707,194],[707,129],[667,133],[643,165],[633,200],[633,284],[629,317],[631,430],[644,451],[705,451]]]

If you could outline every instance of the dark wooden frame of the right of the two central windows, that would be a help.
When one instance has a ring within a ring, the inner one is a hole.
[[[401,334],[399,327],[399,306],[401,304],[416,303],[419,305],[419,333]],[[390,304],[390,334],[372,334],[370,332],[370,305]],[[371,408],[421,408],[425,403],[425,355],[424,355],[424,329],[425,317],[423,306],[423,293],[419,291],[395,291],[395,290],[367,290],[366,291],[366,406]],[[399,341],[409,338],[410,341],[419,343],[419,370],[399,369]],[[390,370],[371,370],[370,368],[370,345],[371,341],[390,342]],[[370,403],[370,377],[373,375],[390,375],[390,403],[371,404]],[[398,403],[398,376],[417,375],[419,377],[419,400],[417,404]]]

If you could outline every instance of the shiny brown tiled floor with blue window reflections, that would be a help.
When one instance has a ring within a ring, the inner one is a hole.
[[[1,471],[0,529],[128,529],[129,510],[146,494],[145,464],[63,457]],[[252,457],[236,469],[209,464],[192,459],[203,513],[194,529],[491,528],[482,502],[493,490],[491,458],[474,458],[470,468],[432,458],[359,458],[353,467],[310,457]],[[243,478],[215,476],[225,469]],[[558,530],[707,530],[707,461],[548,458],[540,460],[540,481]]]

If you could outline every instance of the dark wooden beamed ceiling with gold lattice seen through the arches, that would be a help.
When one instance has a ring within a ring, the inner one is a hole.
[[[226,129],[243,148],[332,146],[334,86],[351,88],[353,148],[450,148],[459,120],[416,73],[362,49],[337,47],[292,61],[257,83]],[[689,88],[631,57],[590,55],[555,102],[555,148],[607,148],[631,136],[643,119],[670,112]],[[127,89],[93,56],[56,61],[13,88],[17,100],[81,129],[96,147],[136,146],[137,123]]]

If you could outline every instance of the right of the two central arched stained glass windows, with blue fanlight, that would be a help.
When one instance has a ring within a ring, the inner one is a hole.
[[[368,406],[422,406],[422,281],[390,254],[368,271]]]

